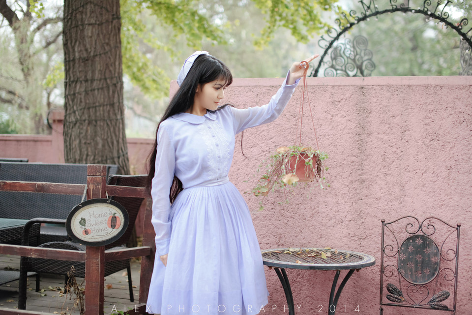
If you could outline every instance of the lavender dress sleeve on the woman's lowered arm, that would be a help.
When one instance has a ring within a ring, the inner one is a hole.
[[[151,223],[156,232],[156,253],[159,256],[169,252],[171,237],[169,192],[174,180],[175,163],[175,148],[172,139],[165,124],[161,123],[157,132],[157,155],[151,189]]]

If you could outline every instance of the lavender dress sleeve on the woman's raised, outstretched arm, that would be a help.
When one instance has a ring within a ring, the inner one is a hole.
[[[284,83],[277,93],[272,96],[268,104],[246,109],[237,109],[229,106],[235,117],[235,133],[241,132],[246,128],[273,122],[282,114],[285,106],[287,106],[287,103],[294,94],[295,87],[299,81],[297,79],[295,84],[287,85],[288,76],[289,73],[287,73]]]

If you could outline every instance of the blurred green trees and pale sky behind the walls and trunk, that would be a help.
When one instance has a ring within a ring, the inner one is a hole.
[[[7,5],[22,21],[12,28],[1,11],[0,133],[49,133],[48,112],[63,107],[63,3],[27,1],[0,0],[0,9]],[[388,0],[376,4],[389,7]],[[348,0],[120,0],[120,7],[126,134],[149,138],[169,102],[170,80],[194,50],[207,50],[236,78],[284,77],[294,61],[323,54],[318,41],[339,12],[363,12]],[[471,20],[472,0],[452,1],[446,11],[451,22]],[[373,53],[372,76],[461,70],[459,35],[424,15],[383,14],[340,41],[359,34]]]

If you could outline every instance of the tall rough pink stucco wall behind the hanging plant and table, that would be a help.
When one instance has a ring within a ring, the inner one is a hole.
[[[236,79],[225,102],[237,108],[265,104],[282,81]],[[472,77],[308,78],[307,83],[320,149],[329,155],[331,188],[297,191],[289,204],[268,195],[261,212],[259,199],[243,194],[261,249],[328,246],[373,255],[376,265],[354,273],[336,314],[374,315],[379,314],[381,220],[411,215],[461,222],[456,314],[471,314]],[[176,88],[172,82],[171,92]],[[236,137],[230,180],[242,193],[251,190],[266,156],[295,144],[301,92],[298,87],[275,122],[244,132],[247,158],[241,154],[241,135]],[[304,122],[302,144],[315,146],[309,112]],[[287,273],[300,306],[296,314],[319,314],[319,305],[320,314],[327,314],[334,271]],[[269,304],[261,314],[288,314],[275,272],[266,268],[266,279]],[[394,307],[384,311],[411,313]]]

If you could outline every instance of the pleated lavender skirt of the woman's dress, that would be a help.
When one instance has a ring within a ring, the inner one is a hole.
[[[156,256],[147,310],[255,315],[268,296],[246,202],[232,183],[182,190],[171,207],[167,267]]]

